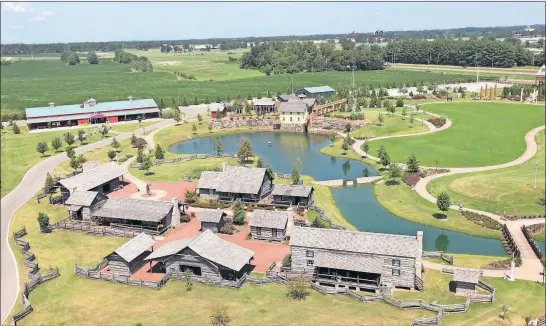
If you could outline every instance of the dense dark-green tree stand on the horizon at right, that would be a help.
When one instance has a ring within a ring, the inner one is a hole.
[[[521,44],[487,39],[402,40],[387,44],[384,51],[385,60],[395,63],[507,68],[532,62],[532,54]]]

